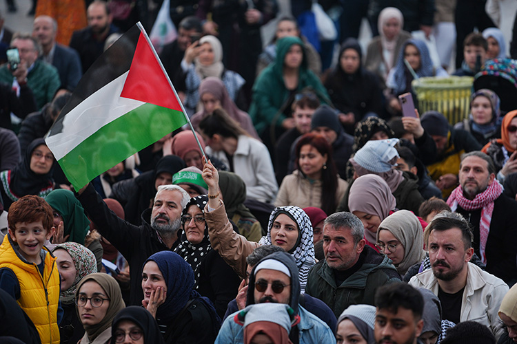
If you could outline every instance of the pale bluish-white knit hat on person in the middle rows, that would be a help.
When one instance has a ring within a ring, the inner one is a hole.
[[[391,161],[399,157],[394,146],[398,138],[368,141],[354,155],[354,161],[371,172],[382,173],[392,169]]]

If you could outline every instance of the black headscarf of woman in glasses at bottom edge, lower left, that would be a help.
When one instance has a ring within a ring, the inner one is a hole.
[[[145,308],[131,305],[116,314],[111,327],[111,344],[115,343],[116,325],[123,320],[129,320],[138,325],[143,332],[143,343],[164,344],[158,323]]]

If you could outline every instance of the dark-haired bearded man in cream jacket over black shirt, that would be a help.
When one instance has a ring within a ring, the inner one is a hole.
[[[474,254],[470,224],[457,213],[442,212],[425,228],[425,246],[432,268],[409,281],[431,290],[443,305],[443,319],[474,320],[499,338],[503,323],[497,314],[507,284],[470,263]]]

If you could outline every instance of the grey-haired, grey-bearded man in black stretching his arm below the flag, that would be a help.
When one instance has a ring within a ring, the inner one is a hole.
[[[110,211],[91,184],[79,191],[77,199],[101,235],[128,260],[130,305],[141,305],[143,263],[156,252],[174,249],[181,229],[181,212],[190,196],[177,185],[159,186],[152,208],[142,213],[141,226],[134,226]]]

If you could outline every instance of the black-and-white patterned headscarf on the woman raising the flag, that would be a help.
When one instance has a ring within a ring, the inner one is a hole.
[[[301,292],[305,292],[307,284],[307,276],[309,270],[316,264],[314,256],[314,242],[312,234],[312,224],[309,216],[298,206],[277,206],[270,215],[270,222],[267,224],[267,235],[262,237],[259,244],[272,245],[271,228],[274,219],[280,214],[286,214],[298,224],[298,244],[293,248],[292,256],[298,267],[298,275],[300,277]]]

